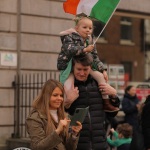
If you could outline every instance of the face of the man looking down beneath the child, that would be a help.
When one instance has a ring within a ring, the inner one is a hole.
[[[73,71],[77,80],[86,81],[91,71],[91,66],[83,66],[80,63],[75,63]]]

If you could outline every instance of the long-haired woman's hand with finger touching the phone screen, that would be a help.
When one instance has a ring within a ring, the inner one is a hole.
[[[64,120],[60,120],[57,129],[55,130],[57,134],[60,134],[64,128],[66,128],[71,120],[69,119],[64,119]]]

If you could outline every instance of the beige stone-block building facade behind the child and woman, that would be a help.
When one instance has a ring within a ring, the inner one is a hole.
[[[57,71],[59,32],[73,27],[63,0],[0,0],[0,146],[14,132],[15,75]],[[150,19],[149,0],[122,0],[116,16]],[[150,58],[150,54],[147,53]],[[146,77],[150,75],[147,59]]]

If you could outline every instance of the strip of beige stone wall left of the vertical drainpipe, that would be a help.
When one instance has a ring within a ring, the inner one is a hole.
[[[17,0],[0,1],[0,56],[4,52],[17,54],[16,14]],[[0,63],[0,146],[13,132],[14,91],[11,83],[16,69],[16,66],[3,66]]]

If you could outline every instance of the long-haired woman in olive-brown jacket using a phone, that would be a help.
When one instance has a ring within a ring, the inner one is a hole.
[[[64,111],[64,89],[60,82],[48,80],[33,101],[26,119],[32,150],[76,150],[82,124],[72,126]]]

